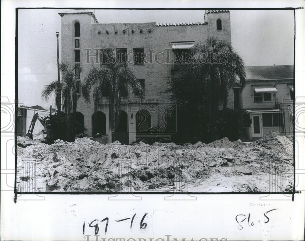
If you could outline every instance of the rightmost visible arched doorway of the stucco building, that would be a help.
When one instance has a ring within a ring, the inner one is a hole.
[[[143,141],[152,144],[151,115],[142,109],[135,114],[136,142]]]

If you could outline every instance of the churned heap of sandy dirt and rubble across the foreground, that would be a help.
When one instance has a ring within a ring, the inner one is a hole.
[[[17,154],[17,183],[28,186],[34,179],[36,192],[269,191],[270,175],[283,178],[275,184],[278,191],[293,184],[292,142],[277,132],[249,144],[222,138],[210,144],[121,145],[88,137],[51,145],[18,137],[17,143],[24,147]],[[34,163],[35,175],[25,162]]]

